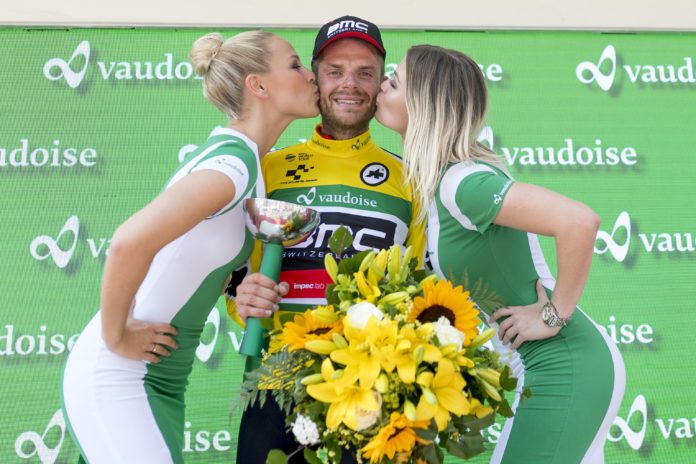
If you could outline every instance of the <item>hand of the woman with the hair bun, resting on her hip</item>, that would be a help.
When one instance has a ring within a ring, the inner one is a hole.
[[[171,351],[179,347],[173,337],[176,334],[176,329],[169,324],[129,318],[121,338],[107,346],[125,358],[156,364],[161,356],[171,356]]]

